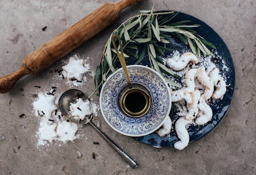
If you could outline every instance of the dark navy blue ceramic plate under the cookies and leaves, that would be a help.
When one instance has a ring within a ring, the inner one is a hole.
[[[161,11],[161,12],[167,12],[167,11]],[[229,53],[229,50],[222,40],[222,38],[218,35],[217,32],[214,31],[208,24],[206,24],[201,19],[189,15],[187,13],[178,12],[175,11],[175,13],[178,13],[178,15],[172,20],[172,22],[181,21],[181,20],[190,20],[190,24],[200,24],[199,28],[194,28],[194,30],[197,31],[197,33],[204,37],[206,41],[211,42],[216,46],[216,51],[218,52],[218,55],[221,56],[225,62],[226,62],[226,69],[223,68],[223,64],[220,61],[217,64],[217,67],[222,71],[222,73],[225,74],[226,80],[227,80],[227,92],[225,93],[222,100],[217,100],[213,105],[211,105],[211,109],[213,112],[212,120],[209,121],[204,126],[190,126],[188,129],[190,142],[194,142],[212,130],[214,130],[218,124],[222,121],[224,118],[230,104],[232,101],[233,96],[233,89],[234,89],[234,65],[232,57]],[[170,38],[171,44],[169,44],[169,48],[176,49],[182,53],[182,51],[185,49],[189,49],[186,45],[184,45],[181,41],[176,40],[174,38]],[[214,57],[212,59],[215,59]],[[147,58],[145,59],[147,60]],[[144,60],[142,64],[147,65],[148,63]],[[175,113],[177,110],[175,108],[172,109],[172,112],[170,113],[170,117],[172,118],[172,121],[176,121],[179,116],[177,116]],[[174,126],[174,125],[173,125]],[[175,126],[174,126],[175,127]],[[156,132],[142,136],[142,137],[134,137],[136,140],[145,143],[150,144],[152,146],[156,147],[173,147],[174,143],[178,141],[178,137],[175,133],[175,130],[172,130],[169,136],[160,137],[156,134]]]

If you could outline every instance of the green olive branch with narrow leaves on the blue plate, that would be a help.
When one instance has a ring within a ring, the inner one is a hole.
[[[165,73],[168,76],[178,77],[170,68],[164,65],[164,60],[161,58],[161,56],[165,56],[166,51],[174,51],[174,49],[166,47],[166,44],[169,43],[169,38],[175,37],[179,39],[188,45],[191,51],[199,58],[201,53],[204,57],[212,55],[207,46],[216,49],[213,44],[193,30],[193,28],[197,28],[200,25],[188,25],[191,22],[189,20],[172,22],[178,12],[158,13],[155,12],[154,6],[152,10],[141,10],[140,12],[141,14],[124,21],[110,35],[95,73],[95,87],[96,81],[98,86],[91,95],[98,89],[100,90],[106,79],[118,68],[117,54],[111,44],[113,35],[120,36],[125,59],[131,58],[135,61],[134,64],[139,64],[147,52],[150,67],[159,72],[168,84],[178,88],[180,88],[180,85],[163,76],[163,73]],[[140,53],[138,45],[143,47]],[[120,49],[120,45],[117,48]],[[131,52],[131,50],[134,52]]]

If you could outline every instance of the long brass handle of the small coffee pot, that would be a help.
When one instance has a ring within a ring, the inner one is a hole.
[[[118,43],[119,43],[119,45],[120,45],[120,52],[121,52],[121,53],[119,53],[119,51],[118,51],[118,49],[117,49],[116,42],[115,42],[115,38],[117,38],[117,40],[118,40]],[[121,66],[122,66],[122,68],[123,68],[123,72],[124,72],[124,76],[125,76],[125,79],[126,79],[126,81],[127,81],[127,84],[128,84],[129,87],[131,87],[131,86],[132,86],[132,83],[131,83],[131,80],[130,80],[130,78],[129,78],[129,74],[128,74],[128,71],[127,71],[126,63],[125,63],[125,60],[124,60],[124,57],[123,57],[123,46],[122,46],[121,38],[120,38],[119,35],[114,35],[114,36],[111,38],[111,41],[112,41],[112,44],[113,44],[113,46],[114,46],[114,48],[115,48],[117,57],[118,57],[118,59],[119,59],[119,61],[120,61],[120,63],[121,63]]]

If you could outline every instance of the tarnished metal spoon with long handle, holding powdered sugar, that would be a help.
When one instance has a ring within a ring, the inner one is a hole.
[[[86,95],[84,95],[83,92],[77,89],[70,89],[64,92],[58,101],[59,110],[61,113],[69,119],[71,122],[78,123],[78,124],[86,124],[89,123],[102,137],[105,139],[106,142],[108,142],[111,147],[115,149],[115,151],[132,167],[136,168],[138,164],[130,157],[128,156],[120,147],[118,147],[108,136],[106,136],[103,132],[101,132],[95,124],[91,121],[92,115],[86,116],[84,120],[78,122],[76,121],[71,113],[70,113],[70,104],[76,103],[77,98],[82,98],[83,101],[89,100]]]

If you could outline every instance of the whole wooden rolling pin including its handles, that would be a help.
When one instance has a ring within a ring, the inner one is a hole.
[[[37,74],[69,54],[84,41],[105,29],[124,8],[144,0],[122,0],[117,4],[106,3],[73,26],[52,38],[23,59],[16,72],[0,78],[0,93],[11,90],[17,80],[26,74]]]

